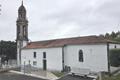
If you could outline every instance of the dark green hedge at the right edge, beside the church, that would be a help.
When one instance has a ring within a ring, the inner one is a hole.
[[[110,64],[111,66],[120,66],[120,49],[110,50]]]

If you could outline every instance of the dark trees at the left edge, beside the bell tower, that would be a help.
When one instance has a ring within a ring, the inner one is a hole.
[[[8,59],[16,59],[16,54],[16,42],[0,41],[0,55],[5,55]]]

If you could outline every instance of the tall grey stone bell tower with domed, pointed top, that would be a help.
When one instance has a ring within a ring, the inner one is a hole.
[[[16,21],[17,25],[17,64],[20,66],[21,64],[21,49],[27,45],[28,43],[28,20],[26,18],[26,9],[23,5],[23,1],[21,6],[18,9],[18,18]]]

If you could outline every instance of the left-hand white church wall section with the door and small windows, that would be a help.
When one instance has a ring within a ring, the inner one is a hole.
[[[36,52],[36,58],[33,57],[33,53]],[[42,48],[42,49],[23,49],[21,54],[22,65],[30,64],[33,67],[43,69],[43,52],[46,52],[47,69],[48,70],[62,70],[62,48]],[[37,65],[33,65],[33,61],[37,62]]]

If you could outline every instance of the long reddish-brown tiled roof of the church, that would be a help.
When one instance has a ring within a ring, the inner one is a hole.
[[[48,47],[60,47],[64,45],[78,45],[78,44],[96,44],[96,43],[107,43],[114,42],[106,40],[99,36],[84,36],[64,39],[54,39],[46,41],[30,42],[25,48],[48,48]]]

